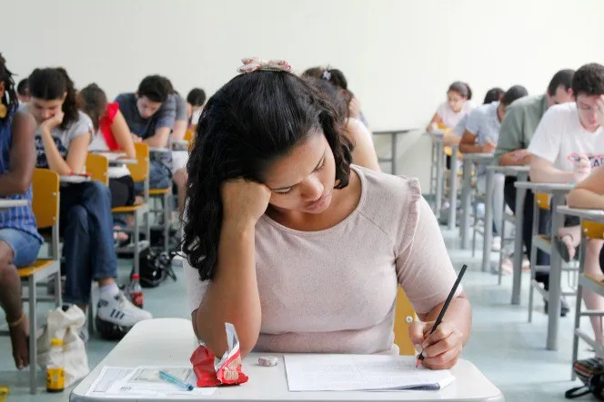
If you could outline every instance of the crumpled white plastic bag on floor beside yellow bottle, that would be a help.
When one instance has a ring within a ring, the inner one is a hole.
[[[45,369],[50,352],[50,339],[63,339],[65,360],[65,387],[73,385],[78,379],[90,372],[88,356],[80,330],[86,323],[84,311],[76,305],[66,311],[52,309],[46,315],[46,327],[40,338],[37,338],[37,361]]]

